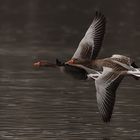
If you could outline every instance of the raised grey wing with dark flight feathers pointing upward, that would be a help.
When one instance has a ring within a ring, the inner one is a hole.
[[[105,23],[106,19],[104,15],[96,12],[92,24],[79,43],[72,59],[91,60],[97,57],[105,33]]]

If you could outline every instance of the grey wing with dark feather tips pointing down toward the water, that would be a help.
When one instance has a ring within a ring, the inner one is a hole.
[[[104,122],[111,119],[116,90],[123,77],[112,68],[104,67],[103,73],[95,80],[97,104]]]

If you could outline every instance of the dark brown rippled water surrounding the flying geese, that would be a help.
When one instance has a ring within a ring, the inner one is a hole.
[[[125,54],[140,66],[139,4],[138,0],[0,1],[0,139],[139,140],[139,81],[124,79],[112,121],[104,124],[93,82],[32,67],[38,59],[69,59],[96,10],[108,20],[100,57]]]

